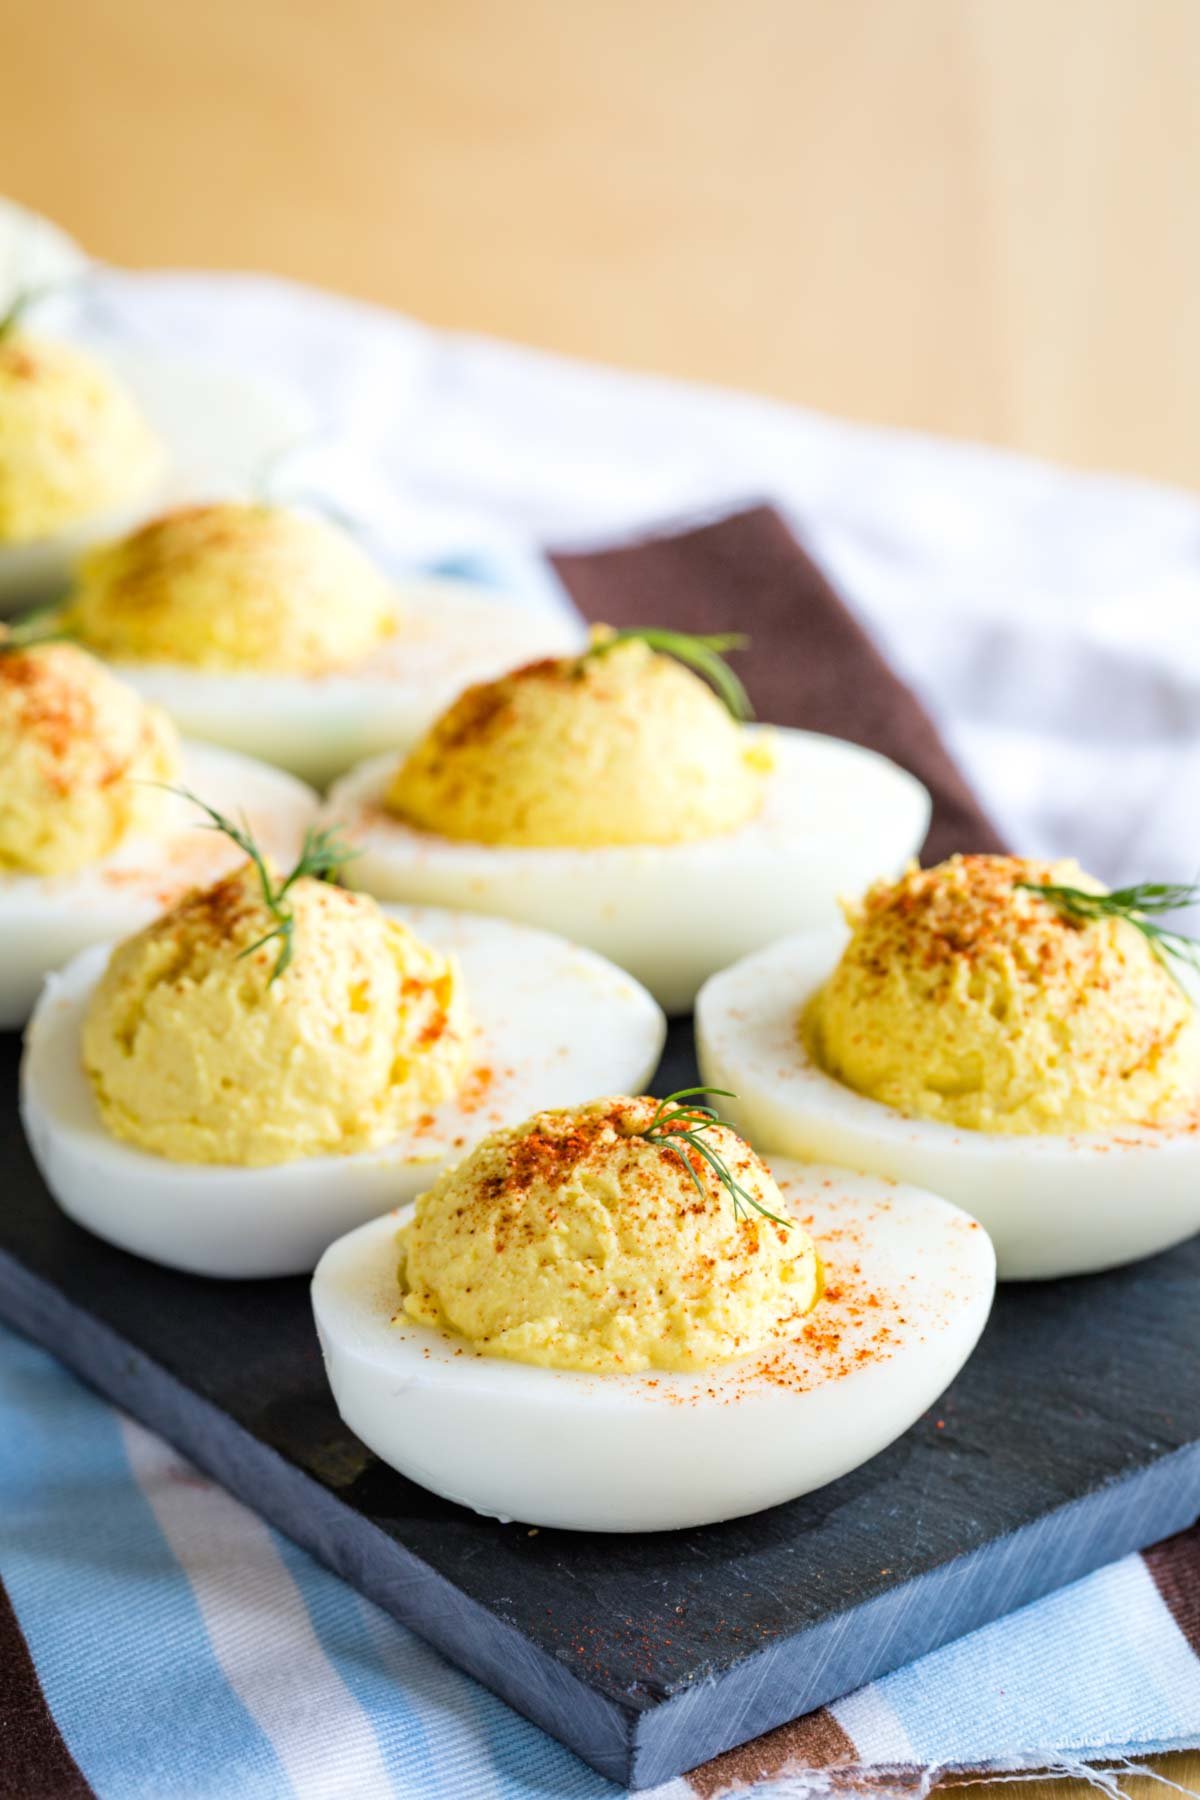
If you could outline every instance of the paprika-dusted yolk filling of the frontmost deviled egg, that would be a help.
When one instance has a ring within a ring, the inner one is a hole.
[[[694,1156],[637,1136],[653,1100],[597,1100],[498,1130],[423,1193],[403,1309],[486,1355],[551,1368],[691,1370],[793,1332],[817,1300],[806,1231],[747,1211]],[[727,1127],[705,1141],[770,1211],[768,1170]]]

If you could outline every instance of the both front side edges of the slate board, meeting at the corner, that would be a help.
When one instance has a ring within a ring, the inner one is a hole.
[[[648,1697],[642,1710],[633,1710],[533,1649],[516,1627],[378,1526],[349,1514],[284,1456],[5,1251],[0,1318],[169,1438],[221,1487],[516,1712],[628,1787],[657,1786],[786,1724],[1115,1557],[1184,1530],[1200,1510],[1200,1444],[1187,1444],[853,1613],[765,1645],[723,1676],[660,1703]],[[353,1521],[351,1534],[344,1516]],[[869,1631],[862,1629],[864,1618]]]

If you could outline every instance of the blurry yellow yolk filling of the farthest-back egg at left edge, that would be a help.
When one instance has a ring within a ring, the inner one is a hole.
[[[0,544],[31,544],[137,500],[164,452],[119,382],[83,351],[0,335]]]

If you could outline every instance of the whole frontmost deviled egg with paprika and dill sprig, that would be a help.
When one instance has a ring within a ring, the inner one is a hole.
[[[693,1094],[493,1132],[313,1278],[326,1372],[385,1463],[500,1519],[648,1532],[757,1512],[900,1436],[995,1265],[912,1188],[770,1168]]]

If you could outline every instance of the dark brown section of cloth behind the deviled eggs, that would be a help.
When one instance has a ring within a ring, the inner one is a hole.
[[[745,632],[750,644],[734,662],[759,718],[864,743],[925,783],[934,796],[925,862],[1006,848],[921,702],[774,508],[551,560],[592,623]]]

